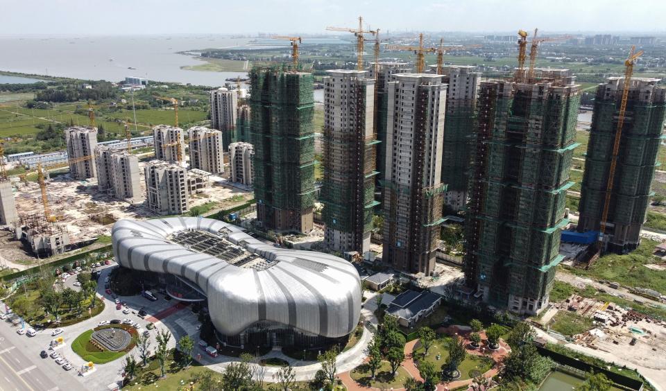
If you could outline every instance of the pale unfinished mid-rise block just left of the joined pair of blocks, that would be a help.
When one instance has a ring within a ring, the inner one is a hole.
[[[76,180],[96,177],[93,154],[97,146],[97,128],[71,126],[65,129],[69,173]]]

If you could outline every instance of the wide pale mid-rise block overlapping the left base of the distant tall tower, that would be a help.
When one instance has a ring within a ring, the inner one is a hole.
[[[189,135],[189,166],[212,174],[224,172],[222,132],[203,126],[187,130]]]

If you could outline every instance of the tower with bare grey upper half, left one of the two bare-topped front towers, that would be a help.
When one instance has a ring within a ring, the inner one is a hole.
[[[339,252],[370,250],[375,201],[375,80],[366,71],[328,71],[324,83],[325,243]]]

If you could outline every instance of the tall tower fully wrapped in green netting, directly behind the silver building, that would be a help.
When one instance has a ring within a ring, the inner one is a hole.
[[[314,208],[314,94],[311,73],[250,71],[248,103],[257,218],[265,229],[309,232]]]

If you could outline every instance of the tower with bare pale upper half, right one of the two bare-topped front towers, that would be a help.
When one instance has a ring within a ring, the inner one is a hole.
[[[388,82],[383,260],[429,275],[442,219],[446,88],[441,76],[400,73]]]

